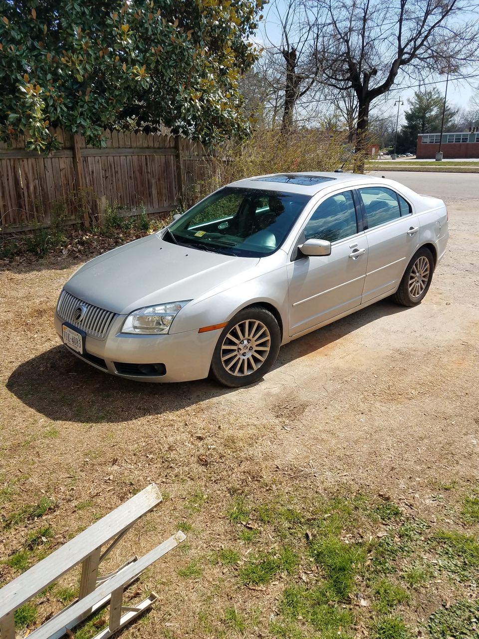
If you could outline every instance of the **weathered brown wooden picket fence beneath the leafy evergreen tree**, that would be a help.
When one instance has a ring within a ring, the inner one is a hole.
[[[66,224],[89,226],[105,198],[122,215],[167,213],[191,203],[192,186],[209,174],[198,142],[181,137],[107,132],[105,148],[84,137],[53,130],[63,148],[45,157],[0,143],[0,227],[3,233],[50,226],[63,208]],[[79,205],[79,197],[83,201]],[[66,212],[66,215],[65,215]]]

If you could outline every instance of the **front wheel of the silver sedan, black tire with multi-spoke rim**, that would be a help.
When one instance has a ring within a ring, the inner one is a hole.
[[[209,374],[231,388],[253,384],[270,371],[280,343],[280,328],[270,311],[261,306],[243,309],[222,330]]]

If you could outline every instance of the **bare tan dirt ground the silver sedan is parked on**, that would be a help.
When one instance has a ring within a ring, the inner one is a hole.
[[[172,553],[150,569],[146,583],[164,588],[162,604],[125,637],[210,636],[194,618],[208,597],[214,607],[220,568],[187,586],[175,571],[227,543],[234,495],[348,486],[434,521],[440,482],[479,484],[478,205],[449,204],[450,242],[420,306],[386,300],[298,339],[261,383],[241,390],[208,380],[144,385],[88,367],[59,345],[52,325],[78,261],[7,266],[0,514],[53,498],[56,508],[43,519],[54,548],[156,482],[167,499],[131,547],[148,551],[187,520],[189,555]],[[0,557],[27,532],[28,525],[0,532]],[[1,581],[15,574],[0,566]],[[234,604],[246,596],[255,594],[237,592]]]

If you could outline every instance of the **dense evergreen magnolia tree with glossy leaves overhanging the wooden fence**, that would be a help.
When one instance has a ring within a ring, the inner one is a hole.
[[[263,0],[3,0],[0,139],[49,152],[61,126],[102,144],[105,128],[162,125],[204,144],[248,132],[238,82]]]

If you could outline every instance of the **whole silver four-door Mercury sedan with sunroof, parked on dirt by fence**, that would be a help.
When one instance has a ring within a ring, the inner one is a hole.
[[[66,282],[55,326],[98,369],[239,387],[282,344],[392,295],[419,304],[448,240],[443,201],[347,173],[241,180]]]

